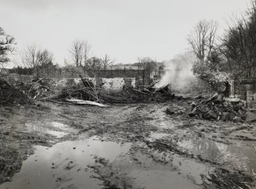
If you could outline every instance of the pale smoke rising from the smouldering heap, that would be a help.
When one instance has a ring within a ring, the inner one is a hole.
[[[174,56],[170,61],[165,61],[165,75],[161,78],[157,87],[170,84],[172,91],[184,92],[190,87],[190,83],[196,79],[192,72],[195,57],[192,53],[183,53]]]

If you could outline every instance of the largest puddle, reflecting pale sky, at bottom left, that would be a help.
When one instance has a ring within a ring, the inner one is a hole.
[[[34,155],[23,162],[21,171],[0,188],[102,188],[102,181],[90,166],[96,156],[110,162],[128,152],[131,144],[102,142],[96,137],[57,143],[53,147],[35,146]]]

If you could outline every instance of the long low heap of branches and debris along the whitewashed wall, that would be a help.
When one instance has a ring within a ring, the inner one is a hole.
[[[102,103],[134,103],[149,101],[170,101],[173,98],[180,100],[170,92],[170,86],[157,88],[157,82],[142,88],[141,90],[125,86],[121,91],[106,91],[100,86],[94,85],[88,78],[83,78],[76,85],[60,85],[53,80],[40,78],[28,84],[21,82],[16,87],[28,96],[39,101],[52,101],[67,104],[92,104],[102,107]]]

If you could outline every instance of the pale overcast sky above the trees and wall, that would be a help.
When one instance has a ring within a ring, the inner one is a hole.
[[[116,62],[140,56],[158,61],[188,49],[186,37],[200,19],[219,21],[251,0],[0,0],[0,27],[18,48],[37,43],[63,65],[70,43],[88,40],[92,56],[109,54]]]

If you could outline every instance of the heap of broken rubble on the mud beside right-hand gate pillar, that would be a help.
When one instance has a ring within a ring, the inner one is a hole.
[[[200,98],[191,103],[190,117],[206,120],[232,120],[241,122],[246,119],[247,109],[244,101],[239,98],[228,99],[222,94],[215,94],[211,98]]]

